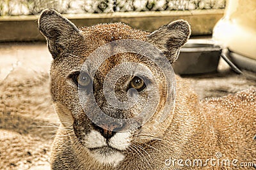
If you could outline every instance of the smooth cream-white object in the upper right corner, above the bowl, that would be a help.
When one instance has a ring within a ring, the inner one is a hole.
[[[212,38],[230,51],[256,60],[256,1],[228,0]]]

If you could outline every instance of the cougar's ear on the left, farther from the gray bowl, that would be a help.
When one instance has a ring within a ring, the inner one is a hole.
[[[47,39],[47,46],[53,59],[60,56],[65,48],[72,46],[72,42],[83,39],[76,25],[55,10],[42,11],[38,19],[38,28]]]

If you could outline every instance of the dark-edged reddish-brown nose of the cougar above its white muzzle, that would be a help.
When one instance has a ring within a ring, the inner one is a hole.
[[[116,131],[118,131],[118,129],[122,128],[122,125],[121,124],[117,124],[117,123],[101,124],[100,126],[96,125],[96,124],[93,124],[93,126],[106,139],[110,139],[112,136],[115,135],[115,133],[116,133]]]

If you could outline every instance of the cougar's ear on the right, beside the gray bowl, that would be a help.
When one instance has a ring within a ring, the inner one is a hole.
[[[177,60],[180,48],[188,41],[190,25],[185,20],[177,20],[160,27],[147,36],[147,41],[161,50],[168,60]]]

